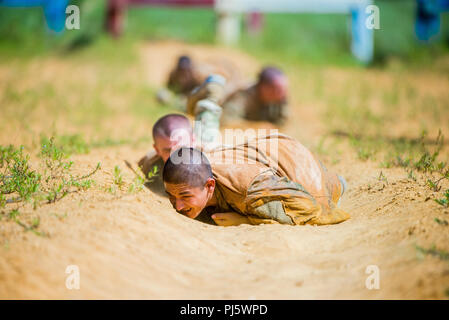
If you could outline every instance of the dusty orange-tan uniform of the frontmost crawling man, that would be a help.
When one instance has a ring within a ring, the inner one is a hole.
[[[207,153],[218,205],[212,213],[237,212],[253,224],[333,224],[349,219],[336,207],[343,179],[330,173],[301,143],[281,134]]]

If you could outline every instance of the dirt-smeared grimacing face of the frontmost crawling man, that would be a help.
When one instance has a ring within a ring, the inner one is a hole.
[[[164,183],[165,191],[176,212],[195,219],[212,198],[215,180],[209,178],[204,187],[191,187],[187,184]]]

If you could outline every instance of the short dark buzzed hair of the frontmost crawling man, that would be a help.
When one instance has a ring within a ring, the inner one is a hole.
[[[204,153],[195,148],[182,147],[168,158],[162,178],[169,184],[204,187],[213,175],[209,160]]]

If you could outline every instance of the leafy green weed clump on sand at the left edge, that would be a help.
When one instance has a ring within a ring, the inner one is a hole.
[[[83,176],[74,175],[73,161],[55,145],[54,140],[43,139],[39,165],[36,166],[31,163],[29,154],[24,153],[23,146],[0,146],[0,210],[25,231],[37,235],[44,235],[37,231],[40,220],[34,219],[31,224],[22,222],[19,220],[20,209],[27,203],[36,209],[61,200],[69,193],[87,190],[94,183],[91,177],[100,170],[98,163],[91,172]]]

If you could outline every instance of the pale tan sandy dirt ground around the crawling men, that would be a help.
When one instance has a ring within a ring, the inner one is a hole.
[[[140,58],[149,85],[161,86],[183,53],[204,60],[226,57],[244,76],[260,67],[232,49],[148,44]],[[320,106],[301,104],[295,90],[292,95],[295,109],[283,131],[313,145],[324,133]],[[131,181],[123,160],[136,163],[148,148],[93,149],[73,160],[80,172],[101,162],[95,179],[102,190],[117,164]],[[352,218],[338,225],[210,226],[178,215],[165,197],[147,189],[136,194],[88,190],[42,206],[33,215],[49,237],[3,220],[0,298],[447,298],[448,261],[420,256],[415,246],[449,249],[449,227],[434,222],[435,217],[447,220],[449,210],[428,201],[432,192],[408,183],[403,169],[383,169],[388,181],[380,181],[374,162],[362,162],[349,151],[340,157],[338,163],[326,163],[349,184],[341,206]],[[69,265],[79,267],[79,290],[66,288]],[[380,272],[379,289],[366,287],[369,266]]]

